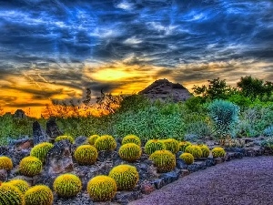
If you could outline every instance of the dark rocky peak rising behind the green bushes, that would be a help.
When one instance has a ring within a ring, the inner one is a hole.
[[[174,102],[185,101],[192,96],[186,87],[179,83],[172,83],[166,78],[156,80],[138,94],[147,96],[152,100],[160,99],[164,101],[170,98]]]

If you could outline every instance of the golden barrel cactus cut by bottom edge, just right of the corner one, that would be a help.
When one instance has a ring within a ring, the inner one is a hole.
[[[25,205],[52,205],[53,192],[45,185],[35,185],[25,191]]]

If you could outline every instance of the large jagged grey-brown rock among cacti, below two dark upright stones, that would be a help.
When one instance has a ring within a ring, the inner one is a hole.
[[[54,144],[45,159],[45,173],[55,175],[72,171],[74,169],[71,155],[71,144],[68,140],[61,140]]]

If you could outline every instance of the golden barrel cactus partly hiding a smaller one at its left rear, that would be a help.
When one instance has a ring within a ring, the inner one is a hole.
[[[103,135],[100,138],[97,138],[95,141],[95,147],[98,151],[101,150],[114,150],[116,149],[116,140],[110,135]]]

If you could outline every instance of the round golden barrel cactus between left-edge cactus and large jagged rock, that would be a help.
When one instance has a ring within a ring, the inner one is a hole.
[[[21,174],[34,177],[42,171],[43,163],[40,159],[32,156],[25,157],[19,163],[19,171]]]

